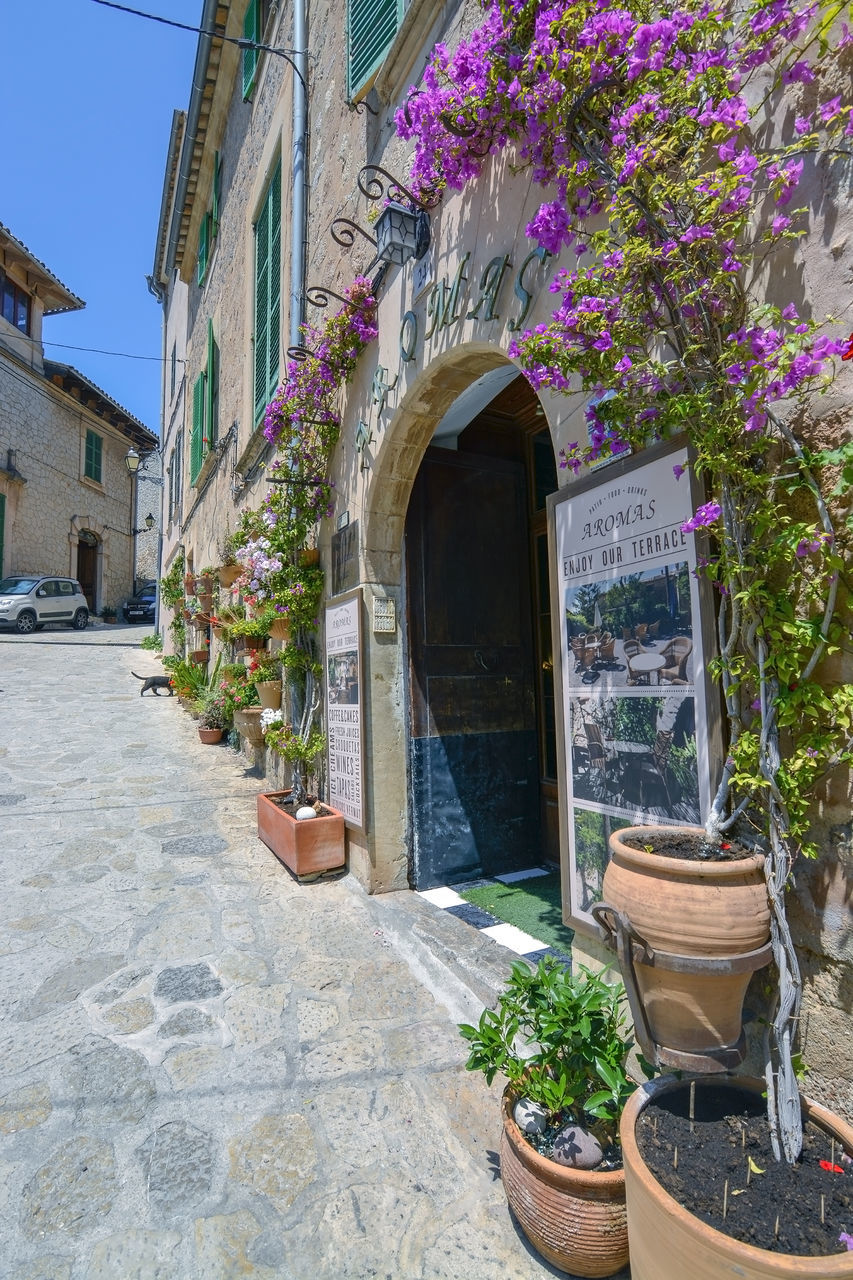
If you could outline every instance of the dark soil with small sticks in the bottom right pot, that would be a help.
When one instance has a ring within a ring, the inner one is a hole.
[[[635,1129],[643,1160],[679,1204],[760,1249],[806,1257],[847,1252],[839,1236],[853,1233],[853,1162],[840,1143],[806,1121],[799,1164],[777,1162],[765,1098],[731,1084],[702,1083],[693,1121],[689,1112],[685,1084],[649,1102]]]

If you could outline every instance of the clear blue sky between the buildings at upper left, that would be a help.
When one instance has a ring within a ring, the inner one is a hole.
[[[202,0],[126,3],[192,26],[201,18]],[[159,434],[161,308],[145,278],[197,36],[93,0],[1,8],[0,223],[86,302],[45,320],[45,356],[74,365]]]

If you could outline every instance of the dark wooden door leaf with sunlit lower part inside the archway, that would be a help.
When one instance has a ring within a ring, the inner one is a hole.
[[[525,468],[430,448],[406,521],[416,888],[539,858]]]

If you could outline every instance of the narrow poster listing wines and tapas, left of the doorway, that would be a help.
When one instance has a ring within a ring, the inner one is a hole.
[[[329,804],[347,826],[364,831],[360,591],[327,605],[325,678]]]

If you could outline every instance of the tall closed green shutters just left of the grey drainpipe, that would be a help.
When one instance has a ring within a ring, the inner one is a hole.
[[[255,223],[255,422],[278,385],[282,326],[282,166],[275,168]]]

